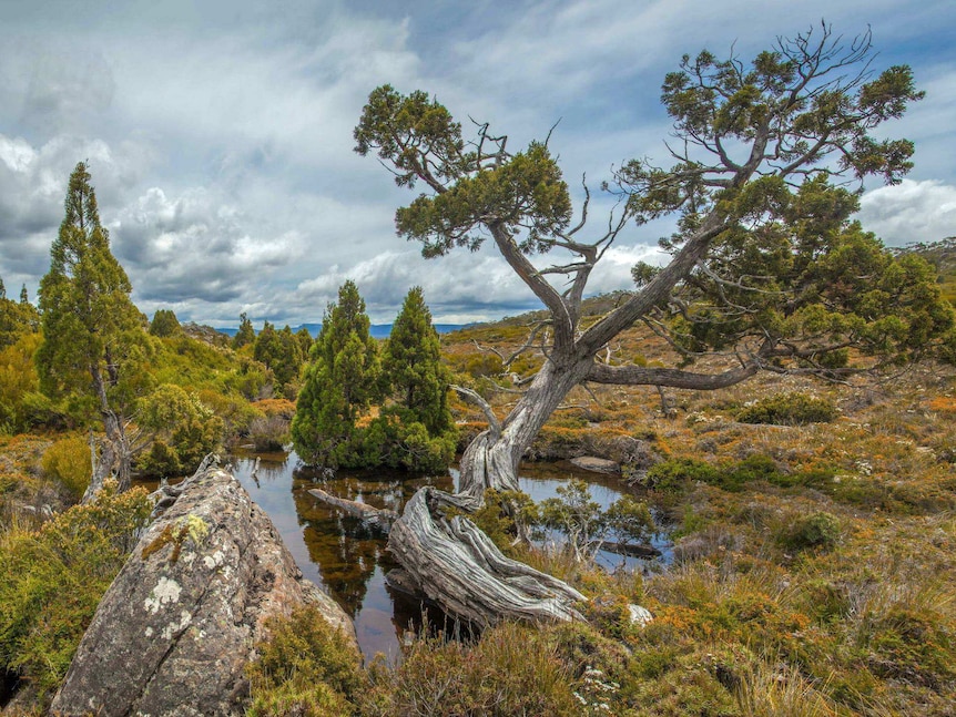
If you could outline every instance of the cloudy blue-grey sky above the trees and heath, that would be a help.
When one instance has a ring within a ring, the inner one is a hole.
[[[683,53],[749,57],[821,18],[871,25],[877,69],[907,63],[927,92],[891,131],[916,168],[867,187],[864,225],[891,245],[956,235],[952,0],[0,0],[0,277],[35,298],[85,160],[150,316],[317,321],[346,278],[375,322],[415,284],[439,321],[517,314],[533,298],[492,247],[426,262],[395,236],[411,195],[353,152],[369,91],[427,90],[510,147],[560,120],[566,178],[597,188],[628,158],[665,162],[660,83]],[[663,233],[623,234],[593,290],[626,287]]]

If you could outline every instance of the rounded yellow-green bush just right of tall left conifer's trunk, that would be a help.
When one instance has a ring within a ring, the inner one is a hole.
[[[163,385],[140,404],[140,427],[153,441],[138,467],[146,475],[191,473],[223,438],[223,421],[179,386]]]

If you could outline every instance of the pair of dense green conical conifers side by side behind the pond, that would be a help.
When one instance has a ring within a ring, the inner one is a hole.
[[[353,281],[325,313],[298,395],[293,444],[327,468],[444,470],[455,451],[448,377],[420,288],[414,288],[379,351]]]

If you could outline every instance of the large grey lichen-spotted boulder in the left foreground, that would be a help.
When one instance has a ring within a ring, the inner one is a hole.
[[[314,604],[348,616],[302,576],[269,519],[227,471],[190,479],[106,591],[53,700],[54,715],[233,715],[265,621]]]

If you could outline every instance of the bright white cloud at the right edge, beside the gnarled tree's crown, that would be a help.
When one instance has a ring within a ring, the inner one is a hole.
[[[903,180],[867,192],[860,205],[864,228],[891,246],[956,236],[956,186],[950,184]]]

